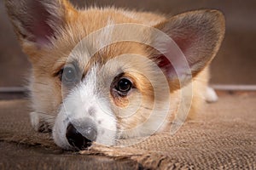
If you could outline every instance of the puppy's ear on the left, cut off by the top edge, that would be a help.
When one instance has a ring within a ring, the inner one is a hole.
[[[6,0],[9,17],[23,46],[49,46],[57,31],[67,22],[65,0]]]

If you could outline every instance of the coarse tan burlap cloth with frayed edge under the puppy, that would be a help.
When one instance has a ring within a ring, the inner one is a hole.
[[[0,101],[0,140],[54,150],[50,134],[32,130],[26,105]],[[152,169],[256,169],[256,93],[220,94],[174,135],[156,134],[125,148],[95,144],[81,154],[131,159]]]

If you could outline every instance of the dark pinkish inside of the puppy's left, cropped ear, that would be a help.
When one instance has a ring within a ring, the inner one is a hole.
[[[49,14],[44,5],[38,1],[33,1],[30,4],[30,10],[32,20],[26,26],[26,29],[32,34],[31,41],[37,42],[38,46],[48,45],[49,38],[55,34],[48,22],[54,20],[54,16]]]

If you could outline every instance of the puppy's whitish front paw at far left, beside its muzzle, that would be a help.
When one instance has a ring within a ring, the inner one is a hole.
[[[50,133],[52,131],[52,123],[47,122],[47,118],[48,116],[42,116],[37,112],[30,113],[32,127],[39,133]]]

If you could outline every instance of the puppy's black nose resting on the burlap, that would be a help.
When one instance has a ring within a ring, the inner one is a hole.
[[[67,141],[77,150],[84,150],[90,147],[92,141],[96,140],[96,129],[94,127],[84,127],[82,132],[84,133],[84,136],[79,133],[73,124],[70,123],[67,126]]]

